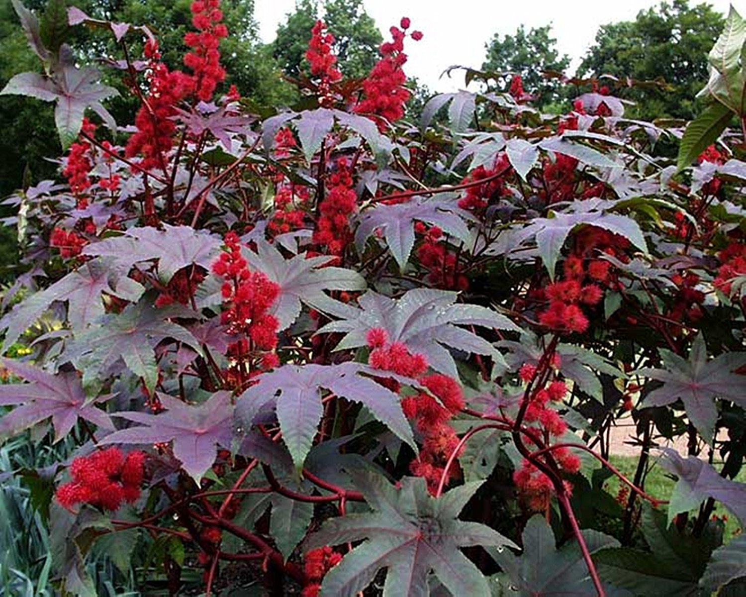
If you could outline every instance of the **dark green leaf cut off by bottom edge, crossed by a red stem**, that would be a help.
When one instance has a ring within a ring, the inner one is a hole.
[[[592,554],[619,546],[614,537],[598,531],[581,532]],[[554,531],[542,516],[533,516],[527,522],[521,539],[520,556],[494,548],[487,550],[510,579],[510,589],[504,590],[504,595],[592,597],[597,594],[577,542],[565,543],[558,549]],[[608,585],[605,588],[609,596],[626,594]]]

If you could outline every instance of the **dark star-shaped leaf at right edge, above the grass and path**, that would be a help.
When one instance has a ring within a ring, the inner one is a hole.
[[[665,406],[681,399],[686,416],[697,431],[712,443],[718,409],[715,398],[732,400],[746,407],[746,375],[733,373],[746,363],[746,353],[728,352],[707,360],[707,347],[700,334],[692,344],[689,359],[661,349],[665,369],[640,369],[639,375],[662,381],[663,386],[645,397],[645,406]]]

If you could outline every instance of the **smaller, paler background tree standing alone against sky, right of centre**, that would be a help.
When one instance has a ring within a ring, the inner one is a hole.
[[[495,34],[485,47],[487,55],[483,70],[521,75],[526,92],[538,95],[533,102],[536,107],[545,107],[558,99],[561,84],[555,79],[545,79],[542,71],[564,72],[570,66],[570,57],[567,54],[560,56],[557,51],[557,39],[551,37],[551,25],[532,27],[528,32],[521,25],[515,35],[501,37]],[[506,79],[509,81],[510,77]]]

